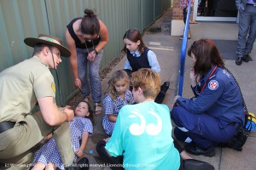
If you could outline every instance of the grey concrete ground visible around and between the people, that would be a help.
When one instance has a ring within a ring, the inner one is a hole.
[[[218,40],[236,40],[238,26],[236,23],[230,22],[199,22],[195,25],[190,25],[192,37],[188,42],[188,47],[195,41],[201,38],[218,39]],[[166,93],[166,99],[164,104],[168,105],[172,109],[173,97],[177,95],[177,84],[179,77],[180,67],[180,50],[182,41],[179,37],[170,36],[170,33],[157,32],[154,34],[144,34],[144,43],[151,48],[157,55],[160,62],[162,82],[171,82],[170,88]],[[229,48],[226,48],[228,51]],[[250,112],[256,113],[256,99],[255,91],[256,87],[256,48],[251,53],[253,61],[249,63],[242,63],[237,66],[235,60],[225,59],[226,67],[234,74],[237,81],[241,86],[241,91],[247,104],[247,109]],[[108,80],[111,77],[113,71],[123,69],[125,64],[125,58],[121,59],[117,65],[113,67],[113,70],[108,73],[107,77],[102,80],[102,93],[104,93],[108,87]],[[191,58],[187,57],[185,61],[185,77],[183,82],[183,97],[192,97],[192,92],[189,88],[189,68],[191,66]],[[253,69],[254,68],[254,69]],[[90,169],[109,169],[102,163],[101,159],[96,153],[96,143],[100,139],[104,139],[107,136],[102,131],[102,116],[95,117],[94,135],[90,138],[86,147],[85,156],[89,158]],[[207,161],[211,163],[216,170],[230,170],[230,169],[255,169],[255,156],[256,156],[256,132],[249,135],[247,143],[243,146],[242,151],[236,151],[229,148],[216,148],[216,156],[192,156],[195,159],[201,161]]]

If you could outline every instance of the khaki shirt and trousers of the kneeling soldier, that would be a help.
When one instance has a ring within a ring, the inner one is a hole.
[[[31,112],[37,99],[47,96],[55,98],[55,82],[37,56],[0,73],[0,122],[15,122],[15,127],[0,133],[0,162],[4,165],[0,169],[29,169],[24,164],[32,162],[30,149],[54,129],[63,163],[73,161],[68,122],[50,127],[40,112]]]

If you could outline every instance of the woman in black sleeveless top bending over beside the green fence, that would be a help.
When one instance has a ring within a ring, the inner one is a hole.
[[[108,43],[108,29],[102,20],[90,9],[84,10],[84,17],[73,19],[67,25],[67,47],[71,52],[70,63],[74,76],[74,84],[81,90],[84,101],[91,96],[95,103],[96,116],[101,115],[102,87],[99,70],[103,48]],[[87,78],[89,66],[90,85]]]

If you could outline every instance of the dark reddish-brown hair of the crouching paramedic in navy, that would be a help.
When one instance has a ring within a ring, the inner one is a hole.
[[[212,65],[218,65],[220,68],[225,68],[224,61],[218,53],[218,48],[208,39],[200,39],[193,42],[188,50],[188,55],[195,54],[194,71],[195,76],[205,76],[211,71]]]

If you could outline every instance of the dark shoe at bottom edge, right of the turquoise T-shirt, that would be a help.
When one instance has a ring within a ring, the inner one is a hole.
[[[210,163],[195,159],[183,160],[183,168],[185,170],[214,170]]]

